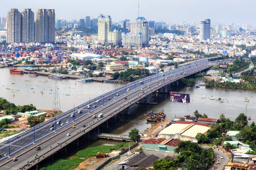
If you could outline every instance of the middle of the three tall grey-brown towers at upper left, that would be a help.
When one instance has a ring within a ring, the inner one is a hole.
[[[25,9],[22,12],[22,42],[35,41],[35,22],[34,12],[31,9]]]

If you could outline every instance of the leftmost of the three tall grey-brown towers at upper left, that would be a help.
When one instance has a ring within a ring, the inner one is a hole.
[[[7,43],[21,42],[22,18],[18,9],[11,9],[7,14]]]

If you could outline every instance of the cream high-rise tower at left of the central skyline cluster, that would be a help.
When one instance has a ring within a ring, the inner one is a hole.
[[[108,42],[108,33],[111,31],[112,19],[111,17],[100,15],[98,17],[98,42],[104,44]]]

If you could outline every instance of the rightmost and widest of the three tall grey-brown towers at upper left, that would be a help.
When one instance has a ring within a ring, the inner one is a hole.
[[[55,10],[39,9],[36,12],[36,42],[55,42]]]

